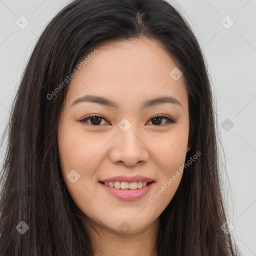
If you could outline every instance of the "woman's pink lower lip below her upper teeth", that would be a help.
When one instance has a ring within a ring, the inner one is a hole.
[[[106,186],[104,183],[99,182],[100,185],[111,195],[123,199],[123,200],[133,200],[142,197],[153,185],[153,181],[146,186],[142,186],[137,189],[116,189],[111,186]]]

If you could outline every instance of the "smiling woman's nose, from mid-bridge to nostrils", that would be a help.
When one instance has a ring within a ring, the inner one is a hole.
[[[135,126],[135,125],[134,125]],[[118,128],[109,153],[112,163],[125,166],[140,165],[149,158],[148,148],[143,136],[133,128],[126,131]]]

